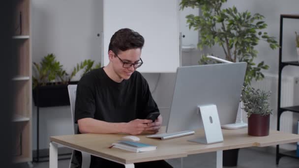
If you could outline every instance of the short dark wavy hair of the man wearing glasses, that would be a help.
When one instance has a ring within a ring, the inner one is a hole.
[[[130,28],[121,28],[113,34],[110,39],[108,52],[111,50],[115,54],[129,49],[142,49],[144,38],[138,32]]]

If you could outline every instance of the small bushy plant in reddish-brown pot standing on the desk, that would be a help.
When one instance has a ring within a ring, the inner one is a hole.
[[[258,137],[269,135],[270,114],[273,111],[269,109],[270,95],[270,91],[243,87],[241,100],[244,104],[242,109],[247,112],[248,135]]]

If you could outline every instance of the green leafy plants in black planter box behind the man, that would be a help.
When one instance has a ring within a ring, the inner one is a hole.
[[[85,74],[100,67],[100,63],[94,67],[93,63],[94,61],[90,59],[77,63],[69,75],[63,70],[63,66],[56,60],[54,54],[44,56],[40,64],[33,62],[32,91],[35,106],[68,106],[70,103],[67,85],[78,83],[77,81],[71,82],[71,79],[80,70],[84,70],[83,74]]]

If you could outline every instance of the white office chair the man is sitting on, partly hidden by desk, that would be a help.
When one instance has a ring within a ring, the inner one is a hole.
[[[71,114],[72,114],[72,123],[73,123],[73,134],[77,134],[78,124],[75,124],[75,102],[76,102],[76,91],[77,91],[77,84],[69,84],[67,86],[68,89],[68,96],[69,102],[71,105]],[[82,153],[82,167],[81,168],[89,168],[90,167],[90,154],[86,152]],[[75,157],[75,150],[72,152],[71,160],[69,162],[69,168],[71,168],[72,160]]]

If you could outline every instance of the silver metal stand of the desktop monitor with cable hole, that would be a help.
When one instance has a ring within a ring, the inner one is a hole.
[[[197,107],[203,121],[205,137],[200,137],[188,141],[204,144],[222,142],[223,136],[216,105]]]

